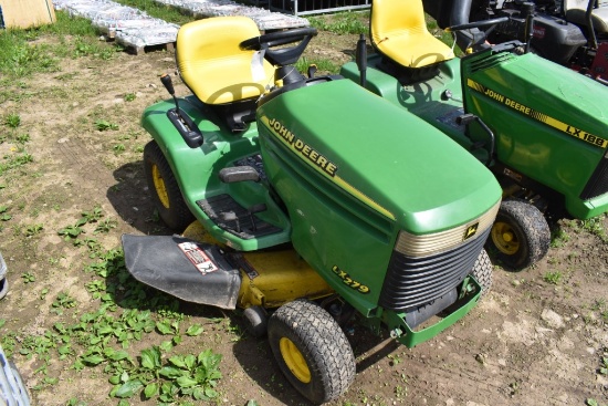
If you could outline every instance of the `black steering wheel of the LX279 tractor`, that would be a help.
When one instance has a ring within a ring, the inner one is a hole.
[[[241,42],[242,50],[264,50],[264,58],[273,65],[285,66],[297,62],[311,39],[317,34],[315,28],[297,28],[289,31],[276,31],[253,37]],[[297,45],[273,50],[274,46],[300,42]]]

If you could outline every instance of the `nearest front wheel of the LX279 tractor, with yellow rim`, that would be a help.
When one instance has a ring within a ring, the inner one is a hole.
[[[355,378],[355,356],[336,321],[317,304],[295,300],[269,320],[269,342],[287,381],[315,404],[340,396]]]

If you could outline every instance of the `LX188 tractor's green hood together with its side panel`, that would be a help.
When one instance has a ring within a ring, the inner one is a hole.
[[[462,69],[465,111],[494,128],[500,162],[562,194],[577,218],[608,210],[607,86],[532,53],[479,53]]]

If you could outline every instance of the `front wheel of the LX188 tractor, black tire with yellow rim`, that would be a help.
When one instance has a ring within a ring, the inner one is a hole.
[[[535,206],[524,200],[503,200],[488,242],[506,268],[522,270],[545,257],[551,230]]]

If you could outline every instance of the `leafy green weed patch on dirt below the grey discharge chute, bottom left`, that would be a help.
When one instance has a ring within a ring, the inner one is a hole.
[[[199,336],[203,326],[189,323],[177,311],[175,298],[156,291],[148,295],[147,288],[126,271],[122,251],[104,250],[96,239],[83,238],[90,232],[107,232],[115,225],[95,206],[82,211],[74,226],[59,230],[64,237],[65,230],[73,231],[65,242],[84,248],[92,260],[83,271],[91,275],[84,288],[98,302],[94,310],[81,310],[82,304],[71,292],[61,291],[50,311],[62,321],[32,334],[11,331],[7,320],[0,319],[0,344],[8,356],[32,360],[35,374],[41,375],[33,391],[57,384],[50,369],[51,364],[61,363],[64,368],[92,369],[105,376],[108,396],[118,405],[128,405],[128,399],[135,397],[161,404],[214,402],[222,378],[221,355],[210,348],[195,354],[179,352],[182,337]],[[36,280],[33,272],[21,277],[23,283]],[[39,299],[48,293],[44,289]],[[130,350],[134,342],[155,332],[164,337],[161,343]],[[77,399],[72,400],[77,404]]]

